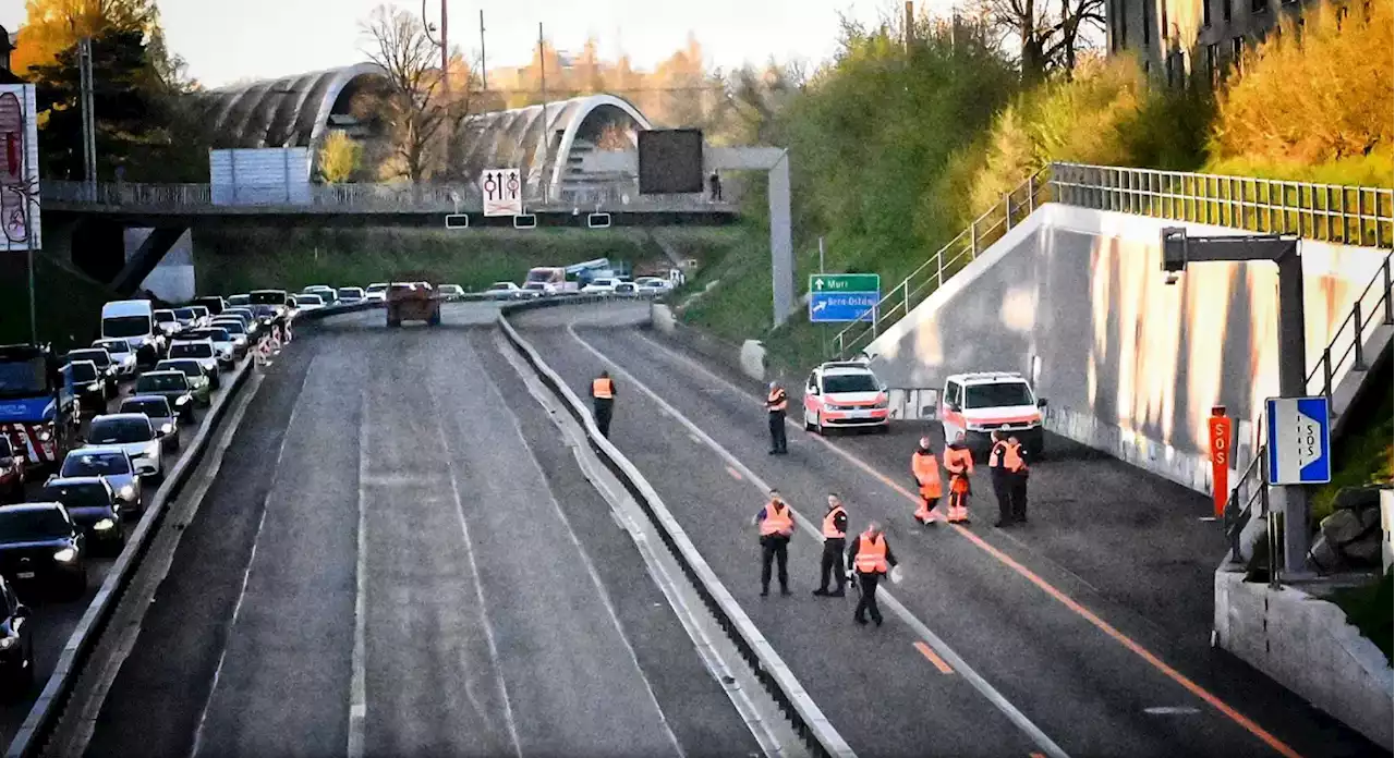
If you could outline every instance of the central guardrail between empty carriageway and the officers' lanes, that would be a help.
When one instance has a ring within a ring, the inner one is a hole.
[[[614,298],[603,297],[598,300]],[[741,651],[742,658],[752,667],[766,691],[780,704],[781,712],[794,726],[795,733],[799,734],[809,751],[820,757],[852,757],[852,748],[833,729],[827,716],[823,715],[780,655],[721,584],[721,580],[698,552],[698,548],[688,538],[682,525],[663,506],[658,493],[653,490],[624,453],[600,433],[600,429],[596,428],[596,422],[591,419],[591,414],[587,412],[576,393],[543,361],[537,351],[533,350],[533,346],[519,336],[508,320],[508,315],[518,311],[572,302],[578,302],[578,300],[540,300],[509,305],[499,312],[499,326],[513,348],[533,366],[543,383],[562,400],[572,418],[586,431],[591,449],[596,450],[605,468],[619,479],[626,492],[635,497],[635,502],[644,511],[644,516],[654,524],[664,545],[679,567],[682,567],[684,574],[698,591],[698,595],[703,599],[703,605],[707,606],[707,610],[717,619],[723,631],[737,645],[737,649]]]

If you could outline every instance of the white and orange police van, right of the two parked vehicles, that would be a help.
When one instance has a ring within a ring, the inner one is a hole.
[[[944,380],[940,393],[940,426],[944,440],[953,442],[964,432],[964,442],[976,454],[993,446],[992,433],[1004,429],[1018,439],[1027,454],[1042,451],[1042,408],[1031,385],[1017,372],[956,373]]]

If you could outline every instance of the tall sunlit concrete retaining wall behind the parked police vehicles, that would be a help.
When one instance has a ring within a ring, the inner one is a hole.
[[[1243,467],[1262,401],[1278,394],[1278,273],[1272,263],[1207,263],[1166,286],[1163,226],[1177,224],[1043,205],[873,341],[873,368],[901,387],[1021,371],[1050,401],[1053,431],[1209,492],[1211,407],[1239,421]],[[1310,241],[1302,254],[1314,365],[1384,254]]]

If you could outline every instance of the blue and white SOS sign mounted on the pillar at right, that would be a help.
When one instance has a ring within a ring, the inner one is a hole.
[[[1327,397],[1271,397],[1269,484],[1321,485],[1332,481],[1332,428]]]

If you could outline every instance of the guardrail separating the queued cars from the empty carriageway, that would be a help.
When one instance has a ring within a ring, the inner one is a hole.
[[[363,311],[371,307],[372,305],[365,304],[338,307],[332,309],[324,308],[321,311],[301,314],[297,319],[308,318],[310,320],[315,320],[335,314]],[[107,624],[116,614],[131,580],[140,568],[141,560],[145,557],[145,553],[149,552],[151,543],[155,541],[155,535],[158,534],[160,524],[165,521],[165,514],[169,510],[170,502],[179,496],[190,475],[202,463],[204,453],[208,450],[208,444],[215,429],[222,425],[223,415],[227,412],[227,408],[232,407],[233,400],[247,383],[247,378],[252,373],[252,359],[248,357],[232,376],[232,380],[227,383],[227,392],[222,393],[209,407],[198,433],[170,468],[160,488],[155,490],[155,495],[151,497],[151,503],[146,506],[145,513],[137,523],[135,529],[127,538],[126,548],[112,563],[112,568],[107,571],[102,587],[92,598],[92,602],[88,603],[88,608],[82,613],[77,626],[73,627],[73,633],[68,635],[68,641],[64,644],[63,652],[59,655],[53,673],[49,676],[47,683],[45,683],[38,699],[35,699],[33,705],[29,708],[29,715],[25,716],[24,725],[20,726],[20,730],[10,741],[10,747],[6,750],[6,758],[38,758],[43,754],[43,750],[53,737],[54,729],[63,719],[63,713],[73,698],[73,691],[81,679],[84,669],[91,660],[98,641],[102,638]]]

